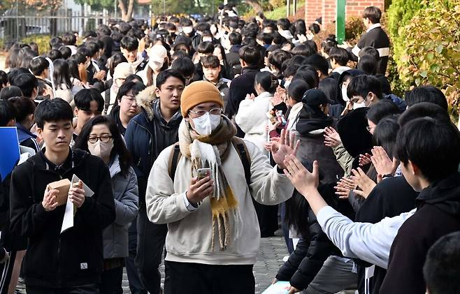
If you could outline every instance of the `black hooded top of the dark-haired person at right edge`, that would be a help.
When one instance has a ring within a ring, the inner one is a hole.
[[[391,244],[380,294],[424,294],[426,253],[440,237],[460,230],[460,173],[432,183],[417,197],[417,211]]]

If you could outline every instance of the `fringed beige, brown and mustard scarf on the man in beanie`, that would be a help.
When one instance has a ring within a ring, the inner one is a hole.
[[[220,251],[225,251],[230,238],[232,237],[233,240],[238,238],[241,231],[240,226],[243,226],[238,210],[238,200],[222,170],[222,162],[228,156],[231,139],[235,134],[236,127],[224,115],[222,115],[220,125],[207,136],[196,133],[185,119],[182,119],[179,126],[180,152],[191,159],[192,175],[196,176],[196,170],[199,168],[211,168],[211,178],[215,182],[213,195],[210,196],[213,215],[212,250],[214,250],[216,234],[219,236]]]

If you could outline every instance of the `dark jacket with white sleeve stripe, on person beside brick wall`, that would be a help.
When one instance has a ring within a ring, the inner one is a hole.
[[[387,71],[389,57],[389,38],[382,27],[374,27],[370,31],[364,33],[352,53],[358,57],[359,51],[364,47],[374,47],[380,54],[380,59],[377,62],[377,73],[385,74]]]

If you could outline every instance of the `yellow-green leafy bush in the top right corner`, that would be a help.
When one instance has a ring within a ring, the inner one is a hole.
[[[391,8],[401,5],[409,9],[401,2],[412,3],[397,0]],[[391,38],[393,58],[398,68],[398,77],[394,79],[401,80],[405,89],[421,84],[438,87],[450,103],[451,115],[457,116],[460,103],[460,0],[448,3],[445,0],[421,1],[417,7],[419,10],[399,29],[398,35]],[[409,10],[401,11],[408,13]],[[401,20],[401,15],[395,17]],[[389,23],[392,21],[390,18]],[[391,74],[396,76],[390,73],[390,80]]]

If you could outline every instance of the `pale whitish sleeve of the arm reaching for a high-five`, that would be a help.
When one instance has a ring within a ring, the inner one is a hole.
[[[384,269],[399,228],[415,210],[378,223],[355,223],[332,207],[319,210],[317,221],[327,237],[349,258],[360,258]]]

